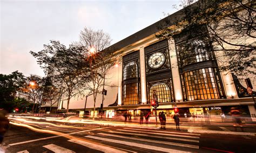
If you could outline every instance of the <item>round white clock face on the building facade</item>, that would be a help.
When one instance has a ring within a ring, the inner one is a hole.
[[[148,60],[149,66],[151,68],[158,68],[164,64],[165,55],[163,53],[157,52],[153,53]]]

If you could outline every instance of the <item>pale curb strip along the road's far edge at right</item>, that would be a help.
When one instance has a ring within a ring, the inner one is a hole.
[[[234,132],[234,131],[216,131],[216,130],[194,130],[187,129],[188,133],[205,133],[205,134],[230,134],[230,135],[242,135],[242,136],[255,136],[255,133],[244,133],[244,132]]]

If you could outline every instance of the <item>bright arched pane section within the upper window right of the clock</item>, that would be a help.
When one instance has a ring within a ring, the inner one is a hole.
[[[194,52],[196,53],[196,60],[199,61],[205,61],[209,60],[208,53],[206,50],[205,43],[201,40],[194,40],[191,45],[194,48]]]

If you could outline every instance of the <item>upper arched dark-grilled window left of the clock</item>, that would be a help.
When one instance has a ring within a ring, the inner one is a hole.
[[[131,61],[124,67],[124,80],[137,78],[138,77],[138,67],[136,62]]]

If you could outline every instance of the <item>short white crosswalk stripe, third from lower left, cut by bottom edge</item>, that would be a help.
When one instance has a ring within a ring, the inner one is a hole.
[[[90,143],[90,142],[86,142],[86,141],[82,141],[82,140],[71,139],[71,140],[69,140],[69,142],[84,145],[85,147],[95,149],[95,150],[98,150],[98,151],[107,152],[107,153],[126,152],[126,151],[123,151],[123,150],[107,147],[105,145],[96,145],[95,143]]]

